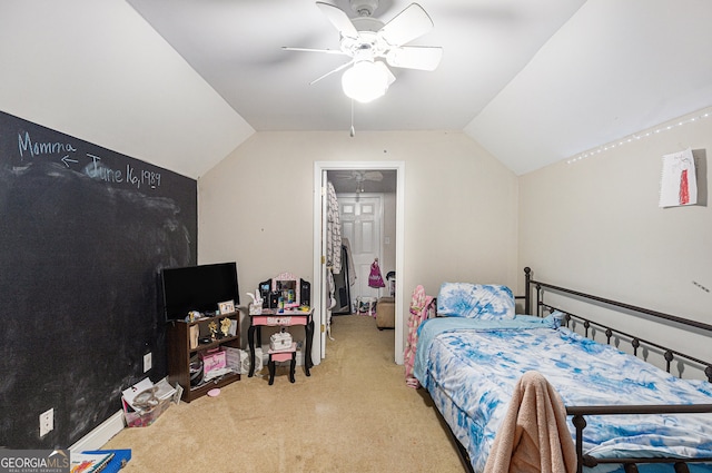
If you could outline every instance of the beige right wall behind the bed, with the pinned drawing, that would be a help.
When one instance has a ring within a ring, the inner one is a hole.
[[[712,294],[699,286],[712,289],[712,209],[659,207],[662,156],[688,147],[709,160],[712,118],[522,176],[518,266],[543,282],[712,324]],[[709,166],[701,177],[710,180]],[[712,358],[710,334],[607,317]]]

